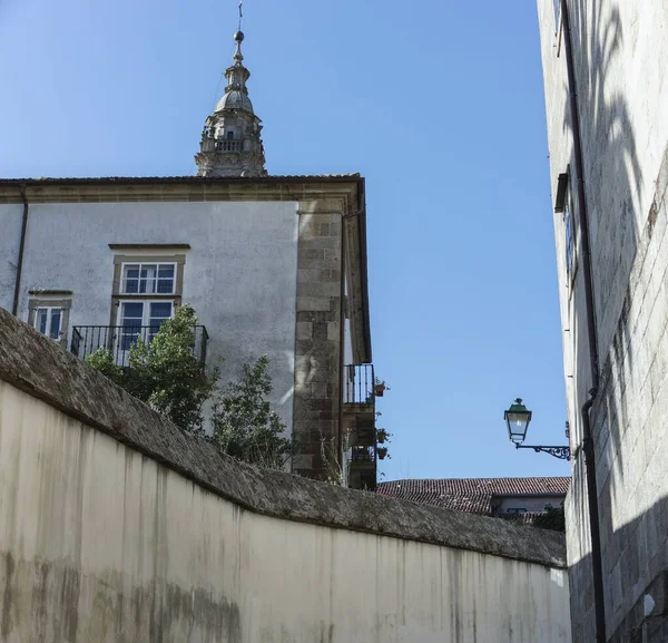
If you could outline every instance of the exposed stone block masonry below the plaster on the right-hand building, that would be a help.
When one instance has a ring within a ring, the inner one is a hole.
[[[608,639],[632,641],[645,616],[668,616],[668,152],[640,235],[612,345],[592,410]],[[568,503],[571,587],[591,610],[583,458]],[[645,595],[655,608],[645,614]],[[576,629],[573,629],[576,632]],[[649,630],[648,630],[649,631]],[[654,629],[651,630],[655,631]],[[646,643],[665,639],[646,639]]]

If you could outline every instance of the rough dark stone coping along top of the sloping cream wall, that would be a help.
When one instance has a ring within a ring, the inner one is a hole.
[[[249,512],[567,567],[558,532],[344,489],[224,456],[2,308],[0,380]]]

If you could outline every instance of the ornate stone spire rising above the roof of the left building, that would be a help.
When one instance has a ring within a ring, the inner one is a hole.
[[[253,111],[244,67],[244,33],[234,35],[236,51],[225,70],[227,87],[204,126],[199,154],[195,155],[198,176],[266,176],[261,119]]]

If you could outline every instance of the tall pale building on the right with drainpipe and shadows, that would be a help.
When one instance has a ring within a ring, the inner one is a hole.
[[[665,642],[666,2],[539,0],[538,14],[573,455],[573,641]]]

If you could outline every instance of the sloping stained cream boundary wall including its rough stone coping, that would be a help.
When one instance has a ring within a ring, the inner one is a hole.
[[[560,534],[223,457],[0,310],[7,643],[570,641]]]

